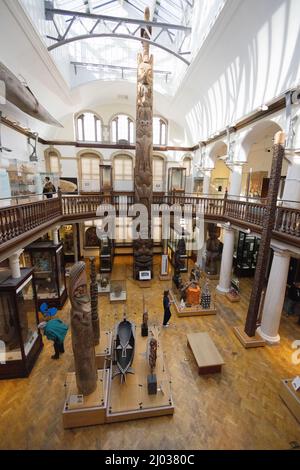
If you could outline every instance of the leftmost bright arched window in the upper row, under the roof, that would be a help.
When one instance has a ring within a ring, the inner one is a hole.
[[[101,142],[102,122],[99,116],[86,111],[76,117],[76,138],[81,142]]]

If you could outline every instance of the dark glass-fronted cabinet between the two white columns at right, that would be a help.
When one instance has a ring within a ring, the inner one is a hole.
[[[249,277],[254,275],[259,243],[259,238],[239,232],[236,254],[234,255],[237,276]]]

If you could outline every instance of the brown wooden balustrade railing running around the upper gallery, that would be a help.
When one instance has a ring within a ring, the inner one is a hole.
[[[59,195],[51,199],[11,205],[0,208],[0,249],[3,251],[7,243],[15,239],[21,241],[38,229],[44,230],[53,223],[64,223],[71,220],[83,220],[96,217],[100,204],[112,204],[116,214],[121,205],[127,201],[128,206],[134,203],[134,193]],[[261,231],[266,211],[265,201],[245,200],[245,198],[201,197],[193,195],[157,195],[153,196],[153,204],[179,204],[181,207],[190,205],[196,214],[214,221],[230,221],[236,226],[249,224],[257,232]],[[300,210],[293,207],[278,205],[273,237],[300,246]]]

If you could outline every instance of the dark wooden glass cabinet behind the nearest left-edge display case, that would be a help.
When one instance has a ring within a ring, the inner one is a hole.
[[[34,268],[37,302],[62,308],[67,299],[63,245],[51,241],[35,242],[26,250]]]

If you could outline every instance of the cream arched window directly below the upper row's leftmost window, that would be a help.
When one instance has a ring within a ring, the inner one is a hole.
[[[79,158],[80,186],[82,191],[100,190],[101,158],[95,153],[83,153]]]

